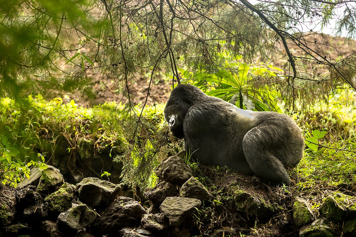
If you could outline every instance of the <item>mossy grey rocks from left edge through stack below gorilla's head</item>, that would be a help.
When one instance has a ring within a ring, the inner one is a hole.
[[[33,169],[17,189],[0,190],[0,236],[190,236],[189,227],[202,202],[213,196],[178,156],[156,170],[160,178],[145,195],[146,210],[120,186],[97,178],[64,183],[59,170]]]

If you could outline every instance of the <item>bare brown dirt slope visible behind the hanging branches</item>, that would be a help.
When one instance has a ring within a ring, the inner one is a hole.
[[[338,57],[346,57],[351,53],[356,51],[356,41],[351,40],[349,43],[344,43],[344,38],[340,37],[330,37],[327,35],[320,36],[316,34],[310,34],[304,36],[305,43],[318,53],[325,54],[330,60],[336,60]],[[320,43],[320,44],[319,44]],[[332,47],[335,45],[337,50]],[[293,54],[300,54],[300,49],[291,48]],[[283,69],[284,64],[287,62],[288,58],[284,50],[281,51],[281,55],[276,57],[276,60],[272,61],[275,67]],[[318,74],[323,74],[327,72],[327,68],[323,65],[318,65]],[[119,103],[126,103],[128,98],[124,96],[120,91],[123,88],[118,88],[118,86],[112,80],[103,80],[100,75],[89,75],[92,78],[94,98],[89,98],[81,93],[73,93],[64,95],[64,102],[68,102],[72,99],[80,106],[93,106],[98,104],[104,104],[104,102],[116,101]],[[147,88],[150,82],[150,78],[139,77],[137,81],[130,82],[130,99],[133,104],[144,103],[147,96]],[[171,81],[162,79],[156,79],[155,83],[150,90],[151,95],[148,96],[147,104],[153,105],[157,103],[164,103],[169,97],[171,91]]]

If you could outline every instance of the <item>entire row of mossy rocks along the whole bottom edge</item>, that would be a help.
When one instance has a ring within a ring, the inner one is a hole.
[[[33,169],[18,188],[0,186],[0,237],[190,237],[200,234],[204,218],[210,221],[209,237],[256,231],[259,236],[356,236],[356,197],[332,193],[319,212],[297,197],[292,216],[265,191],[266,185],[248,177],[219,177],[213,196],[178,156],[164,159],[156,175],[157,185],[144,193],[151,204],[145,210],[119,196],[119,185],[98,178],[72,185],[54,167]]]

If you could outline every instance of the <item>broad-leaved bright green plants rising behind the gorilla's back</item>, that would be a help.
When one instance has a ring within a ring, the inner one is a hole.
[[[208,95],[216,96],[235,104],[241,109],[257,111],[278,111],[276,98],[278,84],[261,85],[259,80],[268,77],[271,81],[278,81],[282,70],[268,65],[249,66],[245,63],[225,63],[227,69],[221,69],[214,74],[189,73],[181,69],[185,83],[194,84]],[[283,72],[283,71],[282,71]]]

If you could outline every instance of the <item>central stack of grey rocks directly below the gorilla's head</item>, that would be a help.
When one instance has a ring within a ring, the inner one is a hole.
[[[142,217],[142,228],[157,236],[189,237],[194,214],[202,203],[213,200],[213,195],[179,156],[164,159],[155,173],[157,185],[144,193],[151,207]]]

